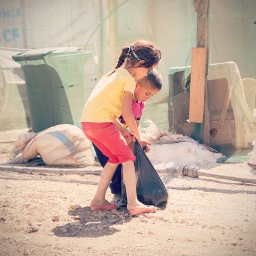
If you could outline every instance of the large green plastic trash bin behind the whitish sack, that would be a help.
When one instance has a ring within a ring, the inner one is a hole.
[[[81,127],[83,68],[92,57],[77,47],[43,48],[12,56],[24,71],[33,132],[61,123]]]

